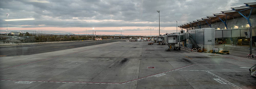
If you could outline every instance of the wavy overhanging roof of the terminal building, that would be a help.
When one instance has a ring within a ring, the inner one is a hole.
[[[245,14],[245,16],[249,16],[251,8],[253,8],[251,14],[256,14],[256,2],[244,3],[244,4],[245,4],[244,6],[233,7],[231,8],[232,10],[221,11],[222,13],[213,14],[214,16],[206,16],[205,18],[201,18],[199,20],[195,20],[195,21],[186,23],[184,25],[180,25],[178,27],[187,29],[190,27],[196,27],[197,25],[200,25],[200,24],[201,25],[207,24],[207,23],[211,24],[215,22],[220,22],[221,20],[230,20],[230,19],[242,17],[241,14],[239,14],[236,11],[240,11],[242,14]]]

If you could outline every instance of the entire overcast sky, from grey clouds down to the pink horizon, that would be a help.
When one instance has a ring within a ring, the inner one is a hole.
[[[0,0],[0,30],[43,33],[158,35],[176,32],[178,25],[256,0]],[[18,28],[16,28],[18,27]],[[180,28],[178,27],[178,30]]]

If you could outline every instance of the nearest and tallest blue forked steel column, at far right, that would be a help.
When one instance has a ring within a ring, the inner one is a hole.
[[[247,7],[249,7],[248,4],[246,4]],[[238,12],[239,14],[241,14],[241,16],[243,16],[247,21],[248,21],[248,24],[250,26],[250,55],[252,55],[252,25],[251,25],[251,21],[250,21],[250,16],[251,16],[251,13],[252,13],[252,7],[251,8],[251,11],[250,11],[250,14],[248,16],[248,18],[246,16],[244,16],[240,11],[236,11],[234,8],[232,8],[232,10]],[[241,10],[242,11],[242,10]]]

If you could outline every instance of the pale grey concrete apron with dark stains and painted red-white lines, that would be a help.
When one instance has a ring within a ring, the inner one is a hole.
[[[255,59],[112,42],[0,57],[1,89],[256,89]]]

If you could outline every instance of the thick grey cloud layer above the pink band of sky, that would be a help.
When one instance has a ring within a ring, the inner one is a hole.
[[[158,26],[154,24],[134,24],[131,22],[158,22],[160,10],[161,27],[185,24],[201,17],[239,7],[255,0],[47,0],[37,3],[29,0],[2,0],[0,3],[0,27],[5,27],[8,19],[35,18],[35,21],[10,22],[11,25],[32,25],[27,27],[118,27],[118,26]],[[230,3],[234,2],[234,3]],[[120,22],[85,22],[73,20],[123,20]],[[53,18],[50,19],[49,18]],[[130,23],[129,23],[130,22]],[[110,30],[109,30],[110,31]]]

